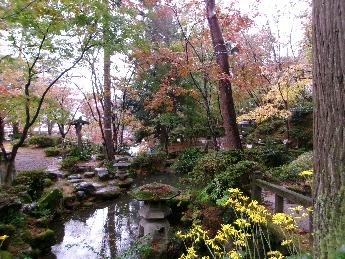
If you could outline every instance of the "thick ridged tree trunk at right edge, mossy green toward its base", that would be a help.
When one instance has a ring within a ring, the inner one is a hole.
[[[344,0],[313,0],[314,258],[345,244],[344,17]]]

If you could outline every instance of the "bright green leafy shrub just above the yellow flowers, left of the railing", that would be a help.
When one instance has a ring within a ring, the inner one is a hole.
[[[247,191],[250,174],[260,169],[258,163],[248,160],[230,165],[224,172],[215,175],[211,183],[206,186],[205,192],[213,201],[217,201],[224,197],[229,188],[238,187]]]

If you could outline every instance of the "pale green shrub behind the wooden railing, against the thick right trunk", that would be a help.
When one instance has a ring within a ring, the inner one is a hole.
[[[280,180],[298,181],[300,172],[313,167],[313,152],[305,152],[287,165],[283,165],[271,170],[273,176]]]

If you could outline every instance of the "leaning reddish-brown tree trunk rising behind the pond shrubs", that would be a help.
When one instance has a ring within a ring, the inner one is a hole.
[[[225,130],[224,147],[226,149],[241,149],[241,139],[237,128],[235,106],[232,98],[228,53],[216,15],[215,0],[206,0],[206,14],[213,48],[220,68],[219,94]]]

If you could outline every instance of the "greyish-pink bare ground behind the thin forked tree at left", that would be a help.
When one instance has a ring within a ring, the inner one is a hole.
[[[19,149],[16,157],[16,169],[18,171],[48,169],[51,167],[58,167],[58,159],[46,157],[43,149],[29,147]]]

